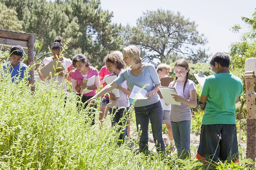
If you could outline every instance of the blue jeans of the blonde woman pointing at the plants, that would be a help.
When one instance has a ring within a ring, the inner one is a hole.
[[[165,151],[164,139],[162,137],[162,123],[163,123],[163,106],[160,101],[142,107],[134,107],[136,125],[141,129],[140,136],[140,152],[148,150],[148,123],[149,119],[152,126],[152,133],[154,141],[156,142],[157,151]]]

